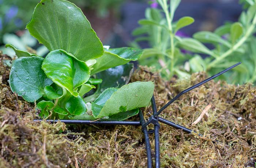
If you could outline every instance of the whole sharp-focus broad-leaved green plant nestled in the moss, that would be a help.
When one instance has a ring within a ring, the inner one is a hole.
[[[7,44],[19,57],[11,67],[10,86],[26,101],[36,101],[41,117],[124,120],[149,104],[153,82],[125,85],[132,70],[127,63],[139,59],[142,50],[104,50],[89,21],[74,4],[40,1],[27,29],[50,52],[42,58]],[[100,76],[108,80],[97,78]],[[96,86],[93,95],[85,95]]]

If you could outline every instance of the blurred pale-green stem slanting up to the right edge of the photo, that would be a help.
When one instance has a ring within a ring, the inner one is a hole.
[[[212,61],[208,66],[207,66],[207,70],[211,69],[212,67],[214,67],[215,65],[217,65],[219,62],[221,62],[223,59],[225,59],[227,56],[229,56],[230,54],[232,54],[235,50],[237,50],[242,44],[245,43],[245,41],[249,38],[249,36],[252,34],[253,30],[255,29],[255,25],[256,25],[256,13],[254,15],[253,21],[251,26],[248,28],[248,30],[246,31],[245,35],[233,46],[231,47],[229,50],[227,50],[224,54],[222,54],[221,56],[218,56],[214,61]]]

